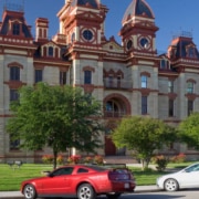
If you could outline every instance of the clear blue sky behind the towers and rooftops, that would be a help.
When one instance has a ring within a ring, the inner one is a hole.
[[[121,43],[118,32],[122,28],[123,15],[133,0],[101,0],[109,9],[105,22],[105,35],[115,36]],[[155,14],[155,23],[159,28],[156,33],[156,46],[160,52],[166,52],[172,38],[180,32],[190,32],[193,42],[199,46],[199,0],[145,0]],[[59,32],[56,13],[64,6],[65,0],[0,0],[0,14],[4,3],[24,3],[27,23],[32,25],[35,35],[35,19],[48,18],[49,36]],[[0,20],[2,21],[2,20]],[[199,48],[198,48],[199,49]]]

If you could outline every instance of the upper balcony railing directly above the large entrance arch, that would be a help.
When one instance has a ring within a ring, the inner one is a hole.
[[[132,88],[133,82],[123,81],[123,80],[109,80],[104,78],[104,87],[105,88]]]

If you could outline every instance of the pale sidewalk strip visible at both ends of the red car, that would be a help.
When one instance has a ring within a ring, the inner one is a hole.
[[[159,189],[154,186],[137,186],[135,193],[138,192],[155,192]],[[21,199],[23,195],[20,191],[0,191],[0,199]]]

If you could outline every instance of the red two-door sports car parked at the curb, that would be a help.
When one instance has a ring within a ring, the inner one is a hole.
[[[103,168],[95,165],[67,165],[45,177],[25,180],[21,192],[25,199],[36,197],[77,197],[95,199],[98,195],[118,198],[136,187],[132,172],[125,168]]]

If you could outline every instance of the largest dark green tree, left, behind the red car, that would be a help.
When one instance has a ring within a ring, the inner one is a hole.
[[[51,147],[56,168],[57,154],[66,147],[94,151],[101,146],[101,105],[91,95],[80,88],[46,83],[23,86],[19,94],[19,101],[11,104],[13,117],[8,121],[7,132],[22,140],[22,148]]]

